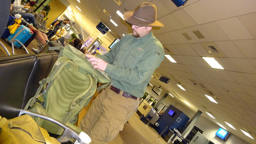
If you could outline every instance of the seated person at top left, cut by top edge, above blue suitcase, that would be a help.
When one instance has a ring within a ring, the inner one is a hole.
[[[34,6],[35,4],[36,2],[30,1],[29,4],[21,5],[21,0],[15,0],[14,4],[12,5],[12,12],[14,12],[14,14],[20,14],[22,18],[24,18],[28,23],[32,23],[33,26],[38,29],[34,15],[21,11],[22,9],[31,9],[31,6]]]

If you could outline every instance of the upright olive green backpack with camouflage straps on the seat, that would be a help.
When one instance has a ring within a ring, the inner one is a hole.
[[[49,47],[50,50],[60,48],[59,58],[52,71],[47,78],[39,82],[36,94],[24,109],[52,117],[82,131],[73,125],[79,112],[90,102],[97,89],[97,82],[110,84],[111,80],[105,72],[94,69],[85,54],[78,49],[70,45],[65,48]],[[33,118],[38,126],[48,132],[62,134],[63,129],[57,124]]]

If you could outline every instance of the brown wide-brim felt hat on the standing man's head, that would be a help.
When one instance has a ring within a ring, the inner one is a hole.
[[[156,20],[156,6],[143,2],[135,11],[124,12],[124,19],[130,24],[137,26],[163,27],[164,25]]]

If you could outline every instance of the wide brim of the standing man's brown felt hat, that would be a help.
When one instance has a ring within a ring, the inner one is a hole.
[[[124,12],[123,14],[124,20],[126,20],[130,24],[138,25],[138,26],[164,27],[164,25],[160,21],[145,22],[145,21],[141,21],[134,18],[132,15],[133,15],[133,11]]]

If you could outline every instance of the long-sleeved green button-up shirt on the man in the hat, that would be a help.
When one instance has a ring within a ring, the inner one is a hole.
[[[127,34],[108,53],[97,57],[108,63],[105,72],[114,87],[143,97],[151,75],[164,60],[164,48],[152,32],[138,39]]]

